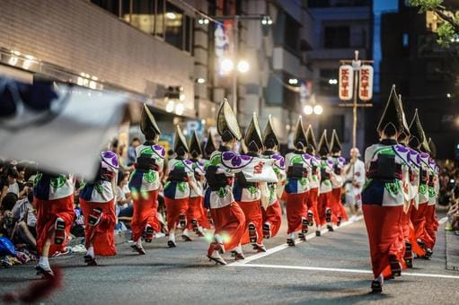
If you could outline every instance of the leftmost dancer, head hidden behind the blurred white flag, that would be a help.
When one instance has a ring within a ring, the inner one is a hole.
[[[75,218],[75,183],[72,175],[41,171],[33,187],[37,209],[37,252],[40,259],[35,269],[44,277],[53,277],[49,254],[66,246],[70,227]]]

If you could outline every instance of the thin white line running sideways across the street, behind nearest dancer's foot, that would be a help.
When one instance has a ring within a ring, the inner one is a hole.
[[[252,267],[252,268],[272,268],[272,269],[293,269],[293,270],[307,270],[307,271],[329,271],[329,272],[341,272],[350,274],[373,274],[370,270],[363,269],[344,269],[344,268],[327,268],[318,266],[282,266],[282,265],[260,265],[260,264],[241,264],[239,262],[230,264],[228,266],[237,267]],[[419,276],[419,277],[437,277],[447,279],[459,279],[459,275],[450,274],[419,274],[402,272],[402,276]]]

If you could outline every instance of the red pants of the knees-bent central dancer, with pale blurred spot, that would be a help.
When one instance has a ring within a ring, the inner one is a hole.
[[[235,202],[224,207],[210,209],[216,228],[215,234],[223,238],[225,249],[233,250],[241,243],[245,232],[245,216]]]

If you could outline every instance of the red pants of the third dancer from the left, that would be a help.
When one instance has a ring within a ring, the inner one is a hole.
[[[133,213],[130,222],[132,240],[137,241],[142,237],[147,224],[153,227],[155,232],[161,231],[161,223],[156,218],[158,209],[158,190],[146,192],[146,197],[139,195],[133,199]]]

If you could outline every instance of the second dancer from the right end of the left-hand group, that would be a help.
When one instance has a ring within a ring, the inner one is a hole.
[[[331,224],[331,179],[333,176],[333,161],[329,158],[330,145],[327,141],[327,129],[323,130],[319,141],[318,153],[321,157],[321,188],[319,190],[319,201],[317,210],[321,225],[327,224],[327,229],[333,231]]]

